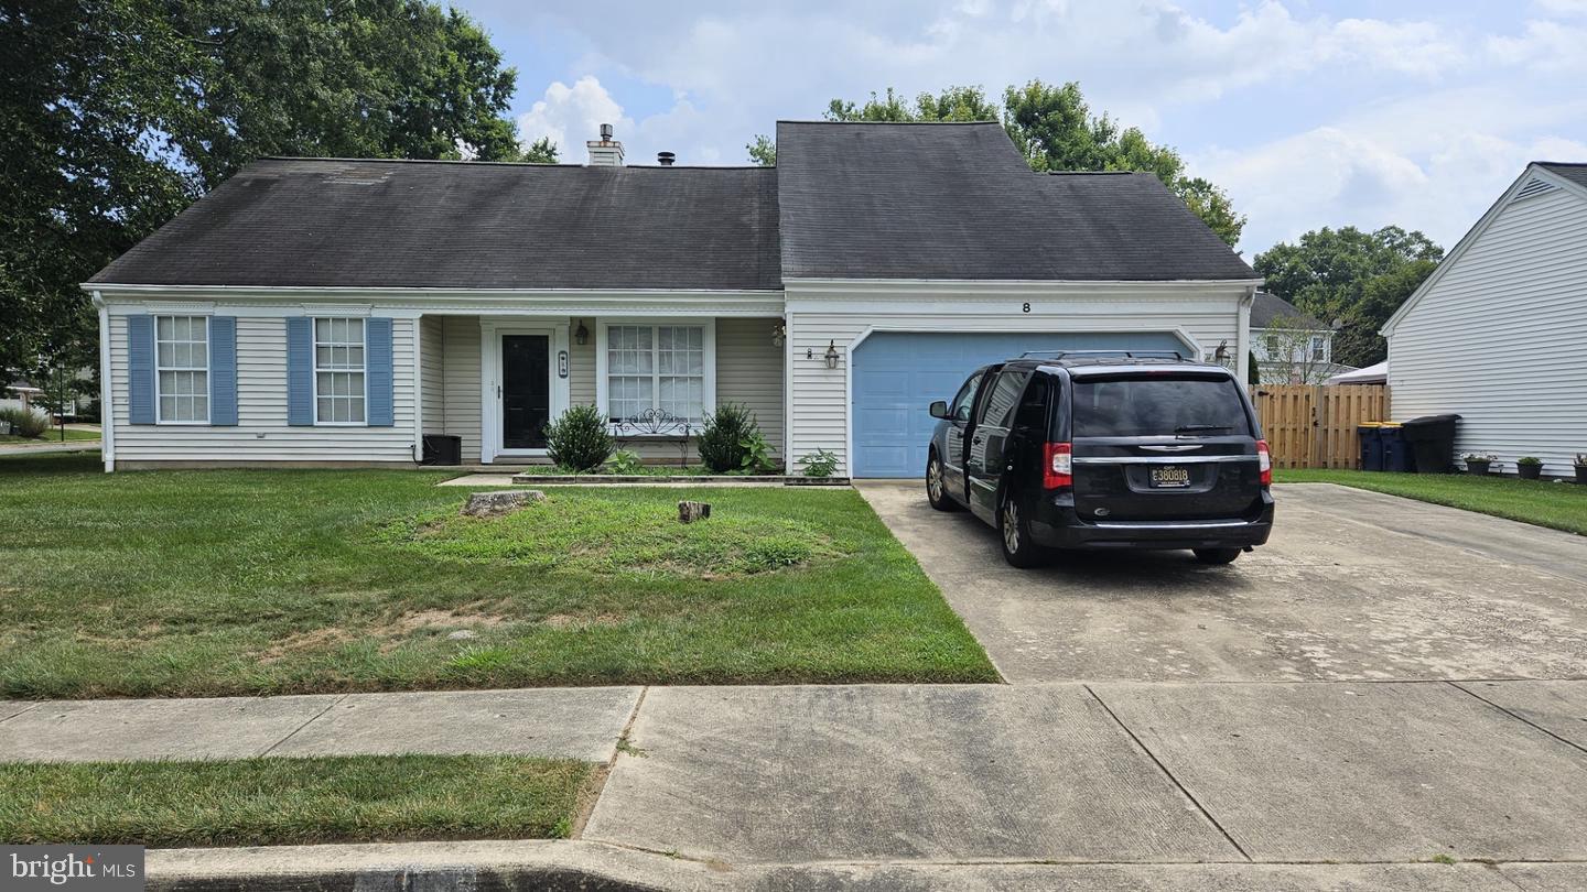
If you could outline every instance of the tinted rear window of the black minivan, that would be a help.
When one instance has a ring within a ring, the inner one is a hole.
[[[1252,435],[1232,378],[1078,378],[1073,417],[1074,436]]]

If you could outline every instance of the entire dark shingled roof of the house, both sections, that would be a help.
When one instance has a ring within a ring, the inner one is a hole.
[[[1149,173],[1032,173],[1003,127],[779,122],[776,168],[265,159],[90,284],[778,289],[1254,279]]]

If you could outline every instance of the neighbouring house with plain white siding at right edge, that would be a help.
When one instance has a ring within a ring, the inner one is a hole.
[[[1393,417],[1455,413],[1455,451],[1587,452],[1587,163],[1535,162],[1384,324]]]

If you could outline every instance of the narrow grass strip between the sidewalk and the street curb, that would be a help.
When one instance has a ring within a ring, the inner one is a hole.
[[[498,756],[0,763],[0,843],[562,838],[592,767]]]

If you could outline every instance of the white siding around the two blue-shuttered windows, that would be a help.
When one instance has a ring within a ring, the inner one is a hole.
[[[416,325],[411,319],[392,322],[394,427],[292,427],[286,319],[251,317],[246,310],[230,308],[225,314],[236,316],[236,427],[129,424],[127,317],[110,314],[110,417],[117,467],[124,462],[413,462]]]

